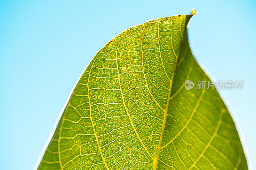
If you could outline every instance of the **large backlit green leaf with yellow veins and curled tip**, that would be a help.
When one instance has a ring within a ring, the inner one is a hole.
[[[38,169],[248,169],[215,87],[185,88],[186,80],[211,81],[189,48],[191,17],[133,26],[100,49]]]

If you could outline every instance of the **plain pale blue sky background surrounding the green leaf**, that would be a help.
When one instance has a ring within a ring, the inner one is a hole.
[[[0,169],[32,169],[73,85],[95,53],[124,29],[190,14],[190,43],[224,90],[256,168],[256,2],[0,1]]]

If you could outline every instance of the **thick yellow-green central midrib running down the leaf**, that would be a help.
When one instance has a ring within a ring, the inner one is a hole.
[[[167,100],[165,111],[164,111],[164,119],[163,119],[162,131],[161,131],[161,135],[160,135],[160,140],[159,140],[159,144],[158,144],[158,149],[157,149],[156,157],[155,157],[155,160],[154,160],[153,170],[156,170],[157,164],[158,164],[158,160],[159,160],[159,155],[160,155],[160,151],[161,151],[161,145],[162,145],[163,136],[164,136],[164,128],[165,128],[165,123],[166,123],[166,118],[167,118],[167,112],[168,112],[169,103],[170,103],[170,100],[171,100],[170,98],[171,98],[171,92],[172,92],[172,83],[173,83],[174,73],[175,73],[177,62],[178,62],[178,58],[179,58],[179,55],[180,55],[180,50],[181,50],[181,47],[183,45],[183,41],[184,41],[184,39],[186,37],[186,33],[187,33],[187,29],[185,30],[185,33],[184,33],[185,36],[183,37],[183,39],[181,41],[180,49],[179,49],[178,55],[176,56],[176,61],[175,61],[175,65],[174,65],[173,72],[172,72],[172,79],[171,79],[170,87],[169,87],[168,100]]]

